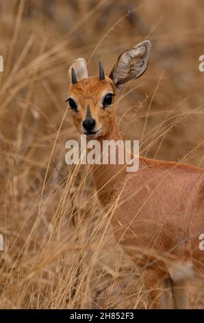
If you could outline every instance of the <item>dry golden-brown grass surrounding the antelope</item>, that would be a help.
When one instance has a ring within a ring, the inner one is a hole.
[[[120,52],[151,39],[149,69],[120,92],[120,129],[141,140],[144,156],[188,156],[204,166],[204,3],[37,3],[0,1],[0,308],[146,308],[90,169],[65,164],[64,144],[77,138],[64,104],[66,74],[80,56],[90,74],[99,60],[108,73]],[[193,288],[191,306],[203,307],[203,299]]]

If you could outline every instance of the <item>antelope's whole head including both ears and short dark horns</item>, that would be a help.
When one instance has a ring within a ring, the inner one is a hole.
[[[99,76],[88,77],[86,61],[78,58],[68,69],[70,87],[68,104],[73,122],[80,134],[105,137],[115,123],[114,98],[116,89],[146,70],[151,43],[142,43],[128,49],[118,57],[109,77],[99,63]]]

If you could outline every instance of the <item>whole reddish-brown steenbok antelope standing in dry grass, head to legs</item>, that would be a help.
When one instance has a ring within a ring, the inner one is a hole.
[[[118,57],[110,75],[89,77],[84,58],[68,70],[68,104],[73,122],[87,140],[121,140],[114,98],[117,89],[139,78],[148,65],[150,41]],[[137,172],[121,164],[94,164],[92,174],[105,209],[116,201],[112,225],[116,240],[141,273],[153,309],[187,307],[187,282],[204,280],[203,169],[140,157]]]

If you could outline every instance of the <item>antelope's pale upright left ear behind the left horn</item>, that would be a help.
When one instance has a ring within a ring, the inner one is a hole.
[[[88,70],[86,67],[86,60],[84,58],[77,58],[68,69],[68,80],[73,83],[73,73],[76,81],[80,78],[88,78]]]

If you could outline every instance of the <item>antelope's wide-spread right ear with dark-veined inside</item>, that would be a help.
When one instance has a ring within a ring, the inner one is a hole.
[[[133,78],[139,78],[144,73],[148,65],[150,51],[151,42],[142,41],[118,57],[109,76],[116,87]]]

